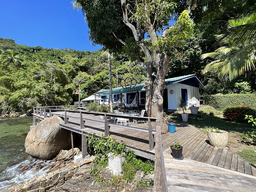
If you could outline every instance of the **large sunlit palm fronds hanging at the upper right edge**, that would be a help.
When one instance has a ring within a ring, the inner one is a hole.
[[[255,70],[256,61],[256,13],[228,21],[228,30],[216,35],[220,47],[201,59],[212,58],[202,73],[218,68],[219,77],[229,76],[230,81],[249,70]]]

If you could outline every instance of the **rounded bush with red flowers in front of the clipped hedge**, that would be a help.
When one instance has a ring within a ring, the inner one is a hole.
[[[248,120],[245,119],[246,115],[255,117],[256,110],[240,105],[237,107],[229,107],[223,111],[223,117],[233,122],[248,123]]]

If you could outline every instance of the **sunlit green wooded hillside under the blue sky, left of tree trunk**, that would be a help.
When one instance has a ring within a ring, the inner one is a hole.
[[[69,105],[109,86],[108,53],[73,49],[44,49],[40,46],[18,45],[14,40],[0,38],[1,52],[14,49],[23,59],[17,70],[12,63],[0,64],[1,110],[28,110],[36,105]],[[145,71],[122,55],[112,56],[113,87],[118,77],[132,77],[144,82]]]

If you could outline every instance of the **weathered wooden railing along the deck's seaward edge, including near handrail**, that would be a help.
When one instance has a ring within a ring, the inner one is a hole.
[[[63,107],[63,106],[58,106]],[[67,106],[65,106],[67,107]],[[52,113],[55,111],[54,113]],[[57,112],[62,111],[63,114],[58,114]],[[79,117],[72,117],[68,116],[67,112],[71,113],[80,113]],[[164,157],[163,157],[163,147],[162,147],[162,139],[161,139],[161,128],[160,128],[160,120],[158,118],[152,118],[152,117],[139,117],[139,116],[128,116],[128,115],[115,115],[110,113],[94,113],[94,112],[87,112],[87,111],[76,111],[76,110],[67,110],[67,109],[49,109],[49,107],[34,107],[33,108],[33,126],[35,126],[35,119],[38,117],[38,121],[40,122],[40,117],[44,116],[46,117],[52,117],[53,115],[59,115],[63,118],[64,124],[67,124],[69,122],[69,119],[79,119],[80,120],[80,129],[82,134],[82,156],[83,158],[87,154],[87,141],[85,137],[85,132],[82,130],[84,128],[84,124],[86,121],[89,122],[95,122],[104,124],[104,134],[105,136],[109,135],[109,129],[110,126],[118,126],[125,129],[130,129],[133,131],[140,131],[144,133],[148,133],[149,138],[149,150],[153,150],[154,148],[154,136],[156,135],[156,145],[155,145],[155,173],[154,173],[154,190],[156,192],[167,192],[167,180],[166,180],[166,173],[165,173],[165,166],[164,166]],[[83,118],[83,114],[89,114],[89,115],[95,115],[95,116],[104,116],[105,121],[96,121],[91,119]],[[132,127],[132,126],[124,126],[124,125],[118,125],[114,123],[108,122],[108,117],[115,117],[115,118],[127,118],[127,119],[133,119],[137,121],[147,121],[148,122],[148,129],[142,129],[138,127]],[[152,122],[156,122],[156,131],[152,130]],[[71,122],[70,122],[71,123]],[[72,135],[72,131],[71,131]],[[72,147],[73,148],[73,147]]]

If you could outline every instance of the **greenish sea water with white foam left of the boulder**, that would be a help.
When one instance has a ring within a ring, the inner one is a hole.
[[[4,118],[0,121],[0,190],[45,174],[51,161],[37,160],[25,152],[25,139],[32,117]],[[42,165],[40,171],[33,169]]]

